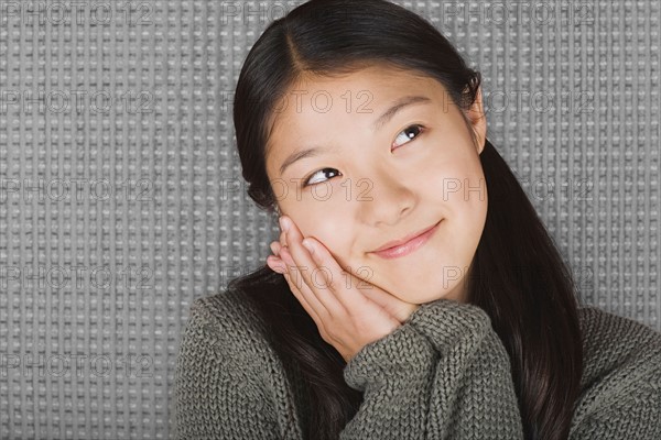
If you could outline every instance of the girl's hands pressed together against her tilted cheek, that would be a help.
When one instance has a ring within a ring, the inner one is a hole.
[[[286,216],[281,217],[280,242],[269,267],[282,273],[291,292],[315,321],[322,338],[348,362],[364,345],[400,327],[419,305],[344,271],[317,240],[305,238]],[[358,287],[360,285],[360,288]]]

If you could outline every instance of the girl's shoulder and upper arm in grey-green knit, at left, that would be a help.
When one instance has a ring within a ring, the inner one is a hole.
[[[195,299],[182,332],[174,394],[175,439],[284,438],[291,414],[261,321],[243,293]],[[286,389],[285,389],[286,391]]]

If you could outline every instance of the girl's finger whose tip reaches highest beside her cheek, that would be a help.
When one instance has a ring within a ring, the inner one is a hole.
[[[327,314],[334,317],[346,315],[346,308],[335,297],[334,293],[330,290],[330,286],[327,284],[326,277],[324,276],[324,273],[326,273],[327,268],[318,267],[318,264],[314,261],[310,251],[303,246],[303,234],[294,224],[294,222],[290,220],[291,219],[285,218],[285,221],[289,222],[289,230],[286,231],[288,251],[293,261],[296,263],[296,266],[301,268],[300,272],[303,282],[307,285],[311,292],[316,295],[318,301],[327,310]],[[305,294],[304,289],[303,293]],[[308,299],[308,301],[311,302],[311,306],[316,307],[314,300]],[[319,309],[316,309],[316,311],[319,316],[323,314],[323,311]]]

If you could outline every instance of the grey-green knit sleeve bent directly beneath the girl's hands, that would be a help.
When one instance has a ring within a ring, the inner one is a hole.
[[[523,439],[507,351],[479,307],[437,299],[345,366],[349,439]]]

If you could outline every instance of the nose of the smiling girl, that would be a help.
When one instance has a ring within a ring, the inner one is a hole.
[[[397,224],[408,217],[415,206],[415,194],[412,189],[390,173],[365,178],[358,183],[356,189],[362,220],[377,228]]]

